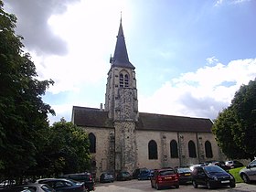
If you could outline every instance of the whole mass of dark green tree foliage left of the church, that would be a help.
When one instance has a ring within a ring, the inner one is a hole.
[[[88,135],[64,119],[49,126],[48,113],[55,112],[41,96],[53,80],[37,80],[15,27],[16,16],[0,0],[0,179],[89,169]]]

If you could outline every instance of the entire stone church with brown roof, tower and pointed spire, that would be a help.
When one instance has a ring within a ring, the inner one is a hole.
[[[210,119],[138,111],[135,67],[128,57],[122,19],[110,63],[104,107],[73,106],[71,117],[89,135],[90,171],[96,180],[102,172],[225,160]]]

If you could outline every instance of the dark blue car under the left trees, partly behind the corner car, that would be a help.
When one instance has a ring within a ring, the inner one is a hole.
[[[37,184],[48,184],[49,187],[54,188],[57,192],[72,191],[72,192],[86,192],[87,189],[84,184],[79,181],[74,181],[66,178],[41,178],[36,181]]]

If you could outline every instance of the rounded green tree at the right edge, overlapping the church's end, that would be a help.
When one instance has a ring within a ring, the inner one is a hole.
[[[230,106],[219,113],[213,133],[219,147],[229,158],[250,158],[256,155],[256,80],[242,85]]]

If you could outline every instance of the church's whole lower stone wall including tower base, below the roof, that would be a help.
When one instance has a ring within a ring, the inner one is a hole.
[[[212,133],[177,133],[135,130],[133,122],[116,122],[112,128],[84,128],[86,133],[96,136],[96,154],[92,160],[96,162],[96,180],[102,172],[118,172],[135,168],[161,168],[179,165],[193,165],[208,160],[225,161]],[[154,140],[157,144],[158,159],[148,158],[148,143]],[[178,144],[178,158],[171,158],[170,142]],[[197,157],[188,155],[188,142],[196,144]],[[205,142],[212,147],[212,158],[205,155]]]

